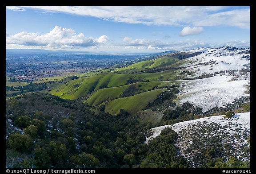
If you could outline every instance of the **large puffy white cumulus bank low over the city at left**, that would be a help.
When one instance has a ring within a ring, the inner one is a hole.
[[[23,31],[6,37],[6,44],[47,47],[88,47],[97,46],[107,41],[108,37],[106,35],[94,39],[92,37],[85,37],[83,33],[76,35],[75,31],[71,28],[66,29],[59,26],[55,26],[50,32],[43,35]]]

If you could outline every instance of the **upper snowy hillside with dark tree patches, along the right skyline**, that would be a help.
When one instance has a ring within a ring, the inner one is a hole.
[[[248,65],[251,60],[250,49],[237,49],[224,46],[221,48],[200,48],[188,50],[188,53],[200,52],[201,54],[186,58],[187,70],[203,73],[215,73],[221,70],[240,70]]]

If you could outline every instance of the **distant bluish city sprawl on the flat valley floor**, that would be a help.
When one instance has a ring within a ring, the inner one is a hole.
[[[62,72],[82,73],[98,68],[117,67],[130,64],[145,54],[104,55],[82,53],[6,53],[6,76],[20,81],[34,81],[36,78],[54,77]]]

